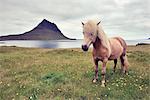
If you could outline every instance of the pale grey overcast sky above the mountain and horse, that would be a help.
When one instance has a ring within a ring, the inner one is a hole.
[[[81,21],[101,20],[108,37],[150,37],[150,0],[0,0],[0,35],[20,34],[43,19],[83,38]]]

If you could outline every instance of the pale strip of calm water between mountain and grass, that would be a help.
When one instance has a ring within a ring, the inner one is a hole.
[[[0,41],[0,46],[17,46],[32,48],[80,48],[83,40],[9,40]],[[150,40],[126,40],[127,45],[150,43]]]

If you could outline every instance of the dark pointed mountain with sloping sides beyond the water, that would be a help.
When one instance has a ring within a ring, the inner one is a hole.
[[[32,30],[18,35],[0,36],[4,40],[65,40],[70,39],[62,34],[56,24],[44,19]],[[72,40],[72,39],[70,39]],[[74,39],[73,39],[74,40]]]

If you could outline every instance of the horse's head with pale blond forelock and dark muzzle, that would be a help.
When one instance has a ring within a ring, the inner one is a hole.
[[[95,23],[94,21],[88,21],[85,24],[82,22],[84,35],[83,51],[88,51],[90,45],[96,41],[99,24],[100,22]]]

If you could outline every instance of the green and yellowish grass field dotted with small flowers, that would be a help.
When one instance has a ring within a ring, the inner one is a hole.
[[[127,56],[128,75],[119,63],[112,74],[108,62],[103,88],[100,77],[92,83],[91,50],[0,47],[0,100],[149,100],[150,45],[130,46]]]

